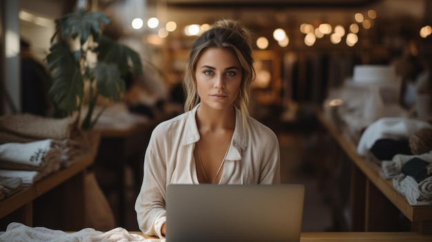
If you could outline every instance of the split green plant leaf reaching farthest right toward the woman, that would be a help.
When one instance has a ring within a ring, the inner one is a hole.
[[[115,63],[119,68],[121,77],[124,77],[128,72],[142,74],[141,59],[135,50],[103,35],[99,37],[97,43],[98,46],[95,51],[98,61]]]

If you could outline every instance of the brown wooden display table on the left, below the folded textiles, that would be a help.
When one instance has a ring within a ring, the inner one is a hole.
[[[99,134],[92,136],[87,152],[75,158],[69,168],[59,170],[30,187],[0,201],[0,230],[12,222],[41,225],[62,230],[81,230],[85,224],[84,179],[99,145]]]

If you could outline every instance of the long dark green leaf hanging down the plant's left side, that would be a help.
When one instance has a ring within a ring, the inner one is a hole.
[[[47,61],[52,77],[49,91],[52,100],[60,110],[76,110],[84,97],[84,77],[75,54],[62,41],[51,46]]]

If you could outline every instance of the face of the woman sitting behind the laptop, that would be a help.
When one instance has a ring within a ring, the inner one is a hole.
[[[197,62],[195,79],[201,105],[217,110],[231,108],[239,95],[242,65],[229,50],[208,48]]]

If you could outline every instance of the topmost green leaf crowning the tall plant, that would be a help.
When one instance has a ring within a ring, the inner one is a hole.
[[[110,19],[102,12],[88,12],[78,8],[56,20],[56,34],[61,33],[62,39],[75,39],[83,45],[90,35],[96,41],[101,30],[101,23],[108,24]],[[51,39],[52,41],[53,39]]]

